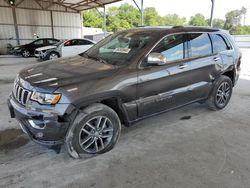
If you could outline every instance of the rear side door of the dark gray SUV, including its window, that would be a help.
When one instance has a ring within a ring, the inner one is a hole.
[[[207,98],[212,88],[212,82],[220,75],[223,62],[219,54],[213,53],[212,41],[208,33],[188,34],[189,59],[192,76],[195,83],[191,88],[192,99]]]

